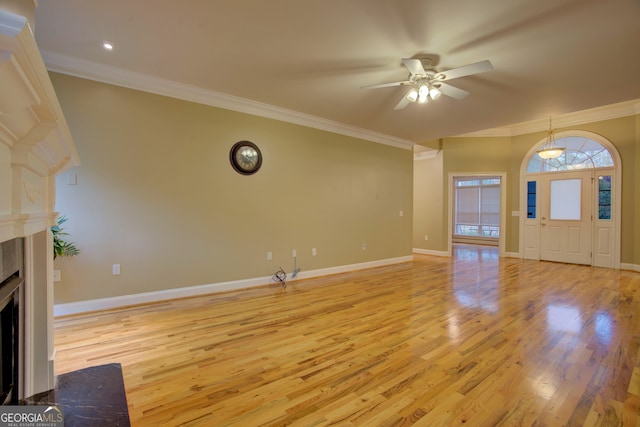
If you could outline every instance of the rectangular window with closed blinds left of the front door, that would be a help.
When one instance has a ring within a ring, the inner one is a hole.
[[[454,236],[500,237],[500,177],[457,177]]]

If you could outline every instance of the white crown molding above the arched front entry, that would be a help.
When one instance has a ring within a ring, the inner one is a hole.
[[[599,122],[603,120],[617,119],[620,117],[634,116],[640,114],[640,99],[619,102],[617,104],[605,105],[588,110],[576,111],[573,113],[553,116],[553,126],[565,128],[578,126],[585,123]],[[546,131],[549,129],[549,118],[532,120],[517,123],[507,127],[485,129],[477,132],[465,133],[456,137],[497,137],[497,136],[518,136],[534,132]]]

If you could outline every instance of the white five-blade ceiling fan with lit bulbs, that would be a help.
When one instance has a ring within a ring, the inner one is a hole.
[[[400,102],[398,102],[398,104],[394,107],[394,110],[405,108],[407,105],[409,105],[410,102],[425,104],[429,102],[429,99],[435,100],[441,94],[450,96],[454,99],[463,99],[469,95],[469,92],[459,89],[455,86],[451,86],[450,84],[445,82],[457,79],[459,77],[480,74],[486,71],[493,70],[493,65],[491,65],[491,62],[489,61],[480,61],[474,64],[469,64],[442,72],[437,71],[435,68],[433,68],[431,60],[428,58],[403,58],[402,63],[405,67],[407,67],[407,70],[409,70],[408,80],[363,86],[363,89],[375,89],[391,86],[411,86],[409,92],[407,92],[405,96],[402,97]]]

